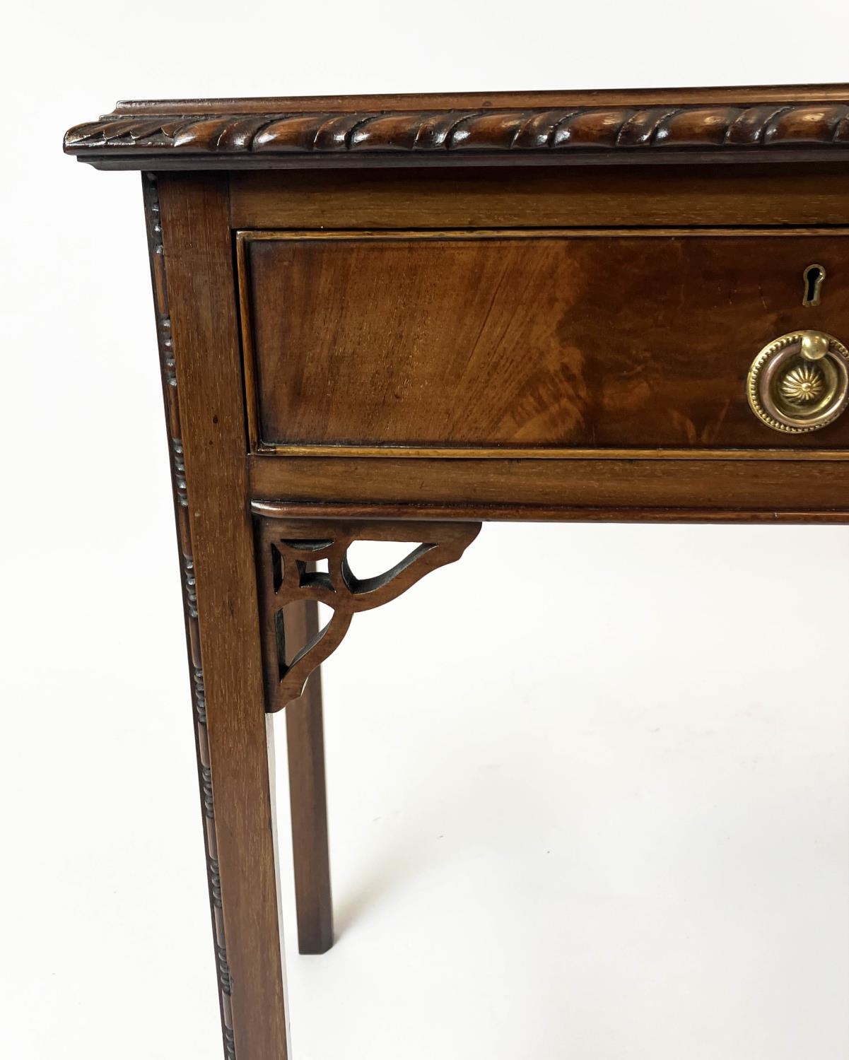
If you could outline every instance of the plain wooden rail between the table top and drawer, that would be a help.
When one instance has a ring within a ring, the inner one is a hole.
[[[846,167],[644,165],[230,175],[233,228],[846,225]]]

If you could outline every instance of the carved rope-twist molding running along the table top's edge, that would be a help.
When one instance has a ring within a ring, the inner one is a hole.
[[[849,147],[849,104],[213,116],[107,114],[69,154],[331,155]]]

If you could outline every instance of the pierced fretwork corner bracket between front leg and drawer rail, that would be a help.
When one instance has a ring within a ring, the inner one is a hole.
[[[479,523],[329,523],[277,517],[275,506],[262,501],[252,508],[269,712],[302,693],[306,678],[339,646],[357,612],[394,600],[428,571],[459,560],[480,531]],[[410,542],[415,547],[385,573],[359,579],[348,562],[348,549],[356,541]],[[326,604],[333,616],[307,643],[287,651],[284,611],[305,600]]]

